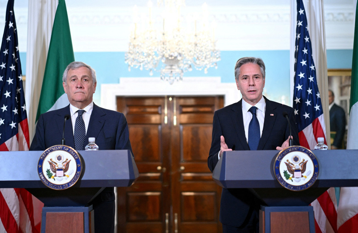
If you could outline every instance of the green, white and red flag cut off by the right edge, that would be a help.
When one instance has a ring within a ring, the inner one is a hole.
[[[358,8],[357,8],[358,10]],[[358,17],[355,15],[352,79],[347,149],[358,149]],[[348,153],[348,152],[347,152]],[[338,205],[338,233],[356,232],[358,229],[358,187],[342,187]]]

